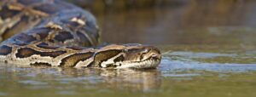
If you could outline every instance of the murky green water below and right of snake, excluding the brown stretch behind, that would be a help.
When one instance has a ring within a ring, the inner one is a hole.
[[[253,50],[212,45],[159,47],[162,52],[172,51],[164,53],[160,66],[154,70],[1,65],[0,96],[256,95],[256,52]]]

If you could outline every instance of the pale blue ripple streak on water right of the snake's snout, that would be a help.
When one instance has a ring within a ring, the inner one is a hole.
[[[177,70],[203,70],[203,71],[232,71],[245,72],[256,71],[256,64],[236,64],[236,63],[204,63],[195,60],[171,60],[163,59],[160,64],[161,71]]]

